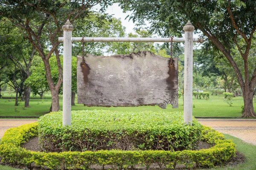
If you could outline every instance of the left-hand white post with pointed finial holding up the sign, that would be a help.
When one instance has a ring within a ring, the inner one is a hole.
[[[62,125],[71,125],[72,31],[69,20],[62,26],[63,33],[63,113]]]

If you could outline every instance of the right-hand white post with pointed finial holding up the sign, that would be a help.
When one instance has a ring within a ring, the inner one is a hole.
[[[185,31],[184,49],[184,124],[192,125],[192,90],[193,90],[193,31],[190,21],[183,27]]]

